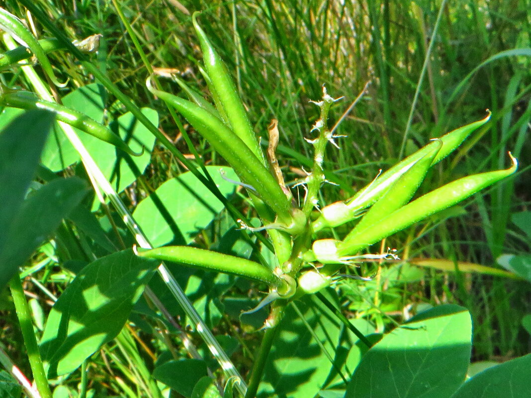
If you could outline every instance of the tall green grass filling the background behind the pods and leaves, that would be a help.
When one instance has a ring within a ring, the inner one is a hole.
[[[91,56],[93,62],[138,105],[157,109],[161,131],[179,150],[190,152],[179,126],[145,88],[148,72],[113,1],[39,3],[71,38],[101,33],[99,51]],[[421,308],[460,304],[473,318],[473,361],[507,360],[529,352],[530,334],[522,319],[531,314],[531,284],[485,273],[456,272],[453,265],[454,261],[470,263],[467,271],[474,270],[476,264],[499,268],[496,258],[500,255],[528,253],[531,248],[530,237],[511,218],[512,214],[527,210],[531,201],[531,61],[524,56],[491,58],[502,51],[529,46],[531,4],[527,0],[445,3],[434,37],[441,3],[424,0],[142,0],[119,4],[151,65],[177,70],[190,85],[207,93],[207,85],[198,72],[201,53],[191,23],[191,13],[203,11],[202,27],[234,73],[255,131],[265,141],[271,119],[279,121],[279,164],[289,185],[304,176],[301,165],[310,165],[311,149],[303,137],[319,115],[309,100],[321,98],[322,84],[333,97],[345,97],[331,110],[333,125],[365,83],[371,81],[368,94],[338,126],[337,132],[346,135],[340,142],[341,149],[328,148],[325,166],[335,170],[340,187],[327,185],[322,189],[326,203],[352,196],[380,168],[386,169],[431,137],[482,119],[489,108],[491,121],[474,133],[457,157],[441,162],[430,172],[421,190],[431,191],[464,175],[503,168],[508,150],[519,152],[513,152],[521,165],[517,175],[383,243],[382,247],[398,248],[401,258],[413,259],[410,263],[422,259],[424,266],[400,263],[399,267],[384,266],[380,270],[378,263],[364,265],[362,273],[376,274],[376,278],[355,289],[344,287],[341,299],[349,316],[365,317],[380,331]],[[16,2],[4,2],[2,6],[23,15]],[[41,26],[37,25],[37,30],[42,37],[47,36]],[[425,77],[419,85],[432,39]],[[59,80],[70,76],[70,88],[93,82],[70,54],[57,52],[50,57]],[[483,64],[485,60],[489,62]],[[3,82],[15,79],[17,73],[4,73]],[[169,81],[164,82],[164,88],[179,91]],[[414,101],[417,88],[418,99]],[[61,95],[68,92],[58,90]],[[119,102],[109,100],[109,113],[123,113]],[[193,140],[207,163],[224,164],[200,137],[193,135]],[[148,191],[183,171],[181,163],[156,145],[142,184],[135,183],[124,191],[124,201],[133,207]],[[206,246],[215,245],[216,228],[197,239]],[[49,245],[41,248],[27,267],[46,258],[62,263],[50,250]],[[435,259],[447,259],[448,263]],[[60,293],[68,273],[54,265],[55,262],[50,263],[33,276],[49,290]],[[446,270],[442,270],[444,266]],[[40,307],[47,313],[49,302],[42,291],[33,283],[27,283],[25,288],[29,296],[40,299]],[[240,283],[236,292],[227,294],[235,299],[256,297],[257,292],[252,285]],[[13,327],[16,320],[6,292],[0,302],[0,341],[11,358],[24,366],[22,341]],[[252,328],[239,324],[237,316],[223,316],[216,322],[215,331],[217,335],[238,339],[241,348],[235,354],[235,363],[246,374],[251,366],[250,353],[259,343],[257,335],[249,333]],[[138,337],[147,345],[140,350],[147,362],[151,354],[157,358],[161,343],[142,332]],[[201,345],[199,340],[196,342]],[[127,362],[127,358],[126,350],[116,353],[107,348],[95,359],[101,366],[92,367],[91,379],[105,386],[107,394],[121,394],[126,387],[117,380],[132,374],[135,363]],[[110,377],[105,368],[117,376]]]

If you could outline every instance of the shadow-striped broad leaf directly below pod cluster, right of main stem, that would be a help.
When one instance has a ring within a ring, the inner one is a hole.
[[[312,333],[294,308],[289,306],[269,353],[257,395],[260,398],[313,397],[323,387],[332,368],[331,361],[319,343],[333,358],[339,344],[340,322],[327,308],[317,305],[313,296],[307,295],[295,303]]]

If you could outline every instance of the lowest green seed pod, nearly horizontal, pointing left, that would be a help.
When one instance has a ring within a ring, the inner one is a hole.
[[[140,257],[172,261],[207,271],[245,276],[275,287],[283,283],[282,279],[273,274],[269,268],[259,263],[211,250],[190,246],[164,246],[156,249],[135,248],[134,250],[136,255]]]

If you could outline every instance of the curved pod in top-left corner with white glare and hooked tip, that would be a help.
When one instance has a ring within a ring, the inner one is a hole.
[[[4,8],[0,7],[0,28],[11,34],[22,46],[28,47],[33,55],[38,59],[42,70],[48,75],[50,80],[58,87],[66,86],[66,82],[60,83],[55,77],[52,64],[50,64],[45,51],[40,46],[37,39],[31,34],[31,32],[24,26],[22,21],[15,15],[7,12]]]

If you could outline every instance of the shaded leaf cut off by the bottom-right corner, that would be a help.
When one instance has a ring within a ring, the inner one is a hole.
[[[521,398],[531,396],[531,354],[486,369],[468,380],[452,398]]]

